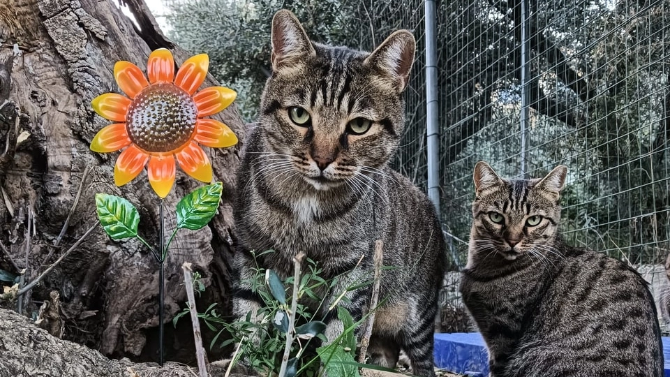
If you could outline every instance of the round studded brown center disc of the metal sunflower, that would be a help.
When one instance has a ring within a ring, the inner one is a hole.
[[[177,85],[153,84],[128,106],[128,136],[149,152],[168,152],[184,145],[195,131],[198,107]]]

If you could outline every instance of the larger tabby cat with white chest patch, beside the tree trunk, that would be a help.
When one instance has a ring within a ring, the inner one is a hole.
[[[260,124],[238,173],[234,311],[246,316],[261,304],[244,282],[253,274],[250,251],[273,249],[258,261],[282,278],[292,276],[292,258],[304,252],[323,278],[342,274],[322,293],[327,303],[315,317],[325,318],[326,337],[334,339],[343,325],[336,310],[325,310],[346,287],[372,279],[373,245],[382,239],[384,265],[397,268],[383,273],[380,301],[386,301],[375,314],[371,358],[394,367],[402,348],[414,374],[434,376],[442,231],[426,195],[387,166],[403,133],[402,92],[415,39],[396,31],[372,53],[320,45],[295,15],[280,10],[271,45]],[[357,320],[369,309],[371,286],[345,296],[339,304]]]

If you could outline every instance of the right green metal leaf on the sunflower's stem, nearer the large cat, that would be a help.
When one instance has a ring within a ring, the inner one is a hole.
[[[197,188],[177,203],[177,228],[198,230],[214,217],[221,201],[223,183]]]

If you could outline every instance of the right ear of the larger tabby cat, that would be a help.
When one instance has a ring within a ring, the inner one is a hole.
[[[365,64],[376,66],[401,92],[410,80],[416,45],[410,31],[395,31],[365,59]]]

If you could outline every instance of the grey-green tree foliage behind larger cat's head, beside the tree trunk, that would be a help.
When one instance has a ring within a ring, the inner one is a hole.
[[[294,12],[307,34],[320,42],[350,42],[361,29],[351,17],[358,8],[356,2],[184,0],[171,4],[168,36],[186,50],[209,54],[210,72],[238,91],[236,103],[247,121],[257,116],[260,94],[271,72],[270,25],[277,10]]]

